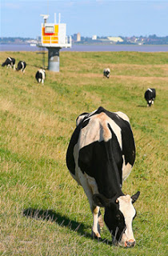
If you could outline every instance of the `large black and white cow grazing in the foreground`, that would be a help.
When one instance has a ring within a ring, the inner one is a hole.
[[[77,118],[66,152],[66,165],[83,187],[93,214],[92,235],[100,238],[103,224],[99,207],[105,207],[104,221],[114,244],[135,245],[132,221],[136,215],[132,197],[122,192],[135,160],[135,144],[130,120],[122,112],[112,113],[99,107]]]

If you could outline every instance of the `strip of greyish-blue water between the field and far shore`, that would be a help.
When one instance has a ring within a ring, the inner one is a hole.
[[[39,51],[38,46],[17,45],[17,44],[0,44],[0,51]],[[72,48],[62,48],[61,51],[139,51],[139,52],[168,52],[168,46],[150,45],[73,45]]]

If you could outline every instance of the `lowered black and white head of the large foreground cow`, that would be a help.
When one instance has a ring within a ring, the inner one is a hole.
[[[136,215],[133,203],[138,199],[138,191],[132,197],[129,194],[112,199],[102,194],[94,194],[93,200],[97,206],[105,207],[104,221],[114,238],[114,244],[123,247],[135,245],[132,222]]]

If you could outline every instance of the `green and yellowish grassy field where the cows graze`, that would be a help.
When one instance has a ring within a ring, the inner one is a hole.
[[[34,78],[41,54],[1,52],[1,63],[8,56],[27,67],[0,66],[0,255],[167,255],[168,53],[61,52],[60,72],[46,70],[44,86]],[[157,94],[151,108],[148,87]],[[106,227],[102,241],[90,238],[89,203],[66,168],[75,119],[98,106],[127,114],[134,133],[136,162],[122,190],[141,191],[133,249],[112,246]]]

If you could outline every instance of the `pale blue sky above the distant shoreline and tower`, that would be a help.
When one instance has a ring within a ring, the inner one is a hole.
[[[66,34],[83,37],[168,35],[168,0],[1,0],[0,36],[37,38],[40,14],[61,14]]]

